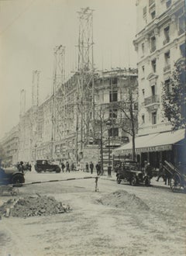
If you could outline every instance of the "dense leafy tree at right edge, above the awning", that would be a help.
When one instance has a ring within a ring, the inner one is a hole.
[[[177,64],[169,82],[163,82],[162,106],[164,117],[172,125],[172,130],[184,128],[186,138],[186,84],[185,61]]]

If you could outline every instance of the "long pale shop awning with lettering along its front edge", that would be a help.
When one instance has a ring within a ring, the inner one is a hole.
[[[171,150],[172,145],[184,139],[184,130],[164,133],[153,133],[135,139],[136,153]],[[125,144],[113,150],[113,154],[131,154],[133,144]]]

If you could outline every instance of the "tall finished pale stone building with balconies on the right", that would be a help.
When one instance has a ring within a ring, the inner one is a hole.
[[[179,145],[184,130],[172,132],[164,118],[162,83],[169,86],[175,64],[185,59],[184,0],[137,0],[136,39],[139,84],[139,130],[136,137],[137,160],[154,167],[160,161],[181,161]],[[170,88],[171,89],[171,88]],[[119,148],[129,154],[131,144]],[[118,150],[118,154],[119,154]]]

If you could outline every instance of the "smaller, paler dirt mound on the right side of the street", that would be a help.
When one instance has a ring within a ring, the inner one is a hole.
[[[129,194],[126,191],[118,190],[108,195],[102,196],[97,200],[104,206],[112,206],[118,208],[125,208],[131,210],[149,210],[149,206],[146,205],[139,197],[135,194]]]

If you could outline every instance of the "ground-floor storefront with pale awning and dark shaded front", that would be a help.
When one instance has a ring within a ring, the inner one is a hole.
[[[114,156],[132,156],[132,142],[113,150]],[[170,131],[164,133],[153,133],[146,136],[136,137],[136,160],[143,167],[144,161],[150,162],[154,168],[159,167],[160,161],[171,161],[177,164],[184,162],[185,140],[184,130]]]

